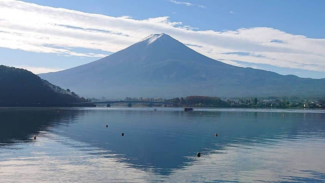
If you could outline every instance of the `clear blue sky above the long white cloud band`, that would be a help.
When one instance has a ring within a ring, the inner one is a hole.
[[[171,21],[182,21],[200,30],[223,31],[272,27],[310,38],[325,38],[325,23],[322,23],[325,19],[325,1],[179,1],[202,5],[205,8],[179,5],[164,0],[28,0],[25,2],[114,17],[127,15],[138,20],[170,16]],[[231,14],[230,11],[234,13]]]

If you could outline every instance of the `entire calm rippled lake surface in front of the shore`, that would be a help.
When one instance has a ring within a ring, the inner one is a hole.
[[[325,111],[157,109],[0,108],[0,182],[325,182]]]

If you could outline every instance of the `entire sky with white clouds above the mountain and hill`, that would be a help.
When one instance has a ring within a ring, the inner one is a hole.
[[[25,2],[0,3],[0,64],[57,71],[164,32],[229,64],[325,78],[325,1]]]

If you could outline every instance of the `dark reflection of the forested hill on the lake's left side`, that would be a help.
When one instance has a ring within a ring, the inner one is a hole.
[[[59,108],[0,108],[0,144],[32,141],[51,126],[68,124],[85,111],[61,111]],[[63,121],[61,121],[64,119]]]

